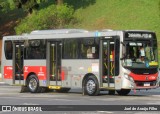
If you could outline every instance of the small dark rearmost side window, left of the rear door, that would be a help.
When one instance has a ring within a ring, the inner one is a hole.
[[[5,56],[6,59],[12,59],[12,53],[13,53],[13,45],[11,41],[5,42]]]

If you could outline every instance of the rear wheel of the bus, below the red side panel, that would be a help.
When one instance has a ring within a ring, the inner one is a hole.
[[[36,75],[29,76],[27,79],[27,87],[31,93],[38,93],[41,91],[41,88],[39,87],[39,80]]]

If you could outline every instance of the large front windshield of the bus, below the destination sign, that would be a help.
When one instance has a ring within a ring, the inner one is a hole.
[[[158,66],[156,41],[125,41],[124,62],[126,67],[148,68]]]

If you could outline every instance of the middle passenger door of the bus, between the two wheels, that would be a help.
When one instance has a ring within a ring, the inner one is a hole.
[[[47,50],[49,85],[61,85],[62,43],[57,41],[48,42]]]

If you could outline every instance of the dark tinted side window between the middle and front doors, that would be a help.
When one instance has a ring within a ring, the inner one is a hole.
[[[65,39],[63,42],[64,59],[97,59],[98,43],[94,38]]]

